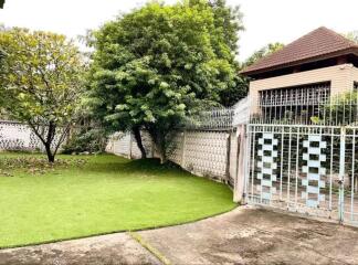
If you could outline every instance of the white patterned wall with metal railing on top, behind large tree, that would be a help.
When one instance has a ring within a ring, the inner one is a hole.
[[[178,132],[169,148],[169,160],[183,169],[235,186],[240,172],[238,127],[249,120],[249,99],[244,98],[232,108],[204,112],[188,124],[188,129]],[[240,130],[241,134],[242,130]],[[241,138],[240,138],[241,137]],[[147,157],[157,157],[150,137],[141,131]],[[140,158],[140,150],[130,134],[117,132],[108,140],[107,152]]]

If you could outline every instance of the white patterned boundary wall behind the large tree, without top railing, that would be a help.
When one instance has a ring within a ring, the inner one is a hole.
[[[141,132],[147,156],[157,157],[150,137]],[[183,169],[234,186],[238,172],[238,137],[228,131],[183,131],[172,139],[169,160]],[[137,142],[130,134],[118,132],[107,145],[107,152],[130,159],[140,158]]]

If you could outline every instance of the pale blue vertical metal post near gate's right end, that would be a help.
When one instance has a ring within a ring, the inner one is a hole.
[[[340,152],[339,152],[339,222],[344,222],[345,213],[345,162],[346,162],[346,127],[340,128]]]

